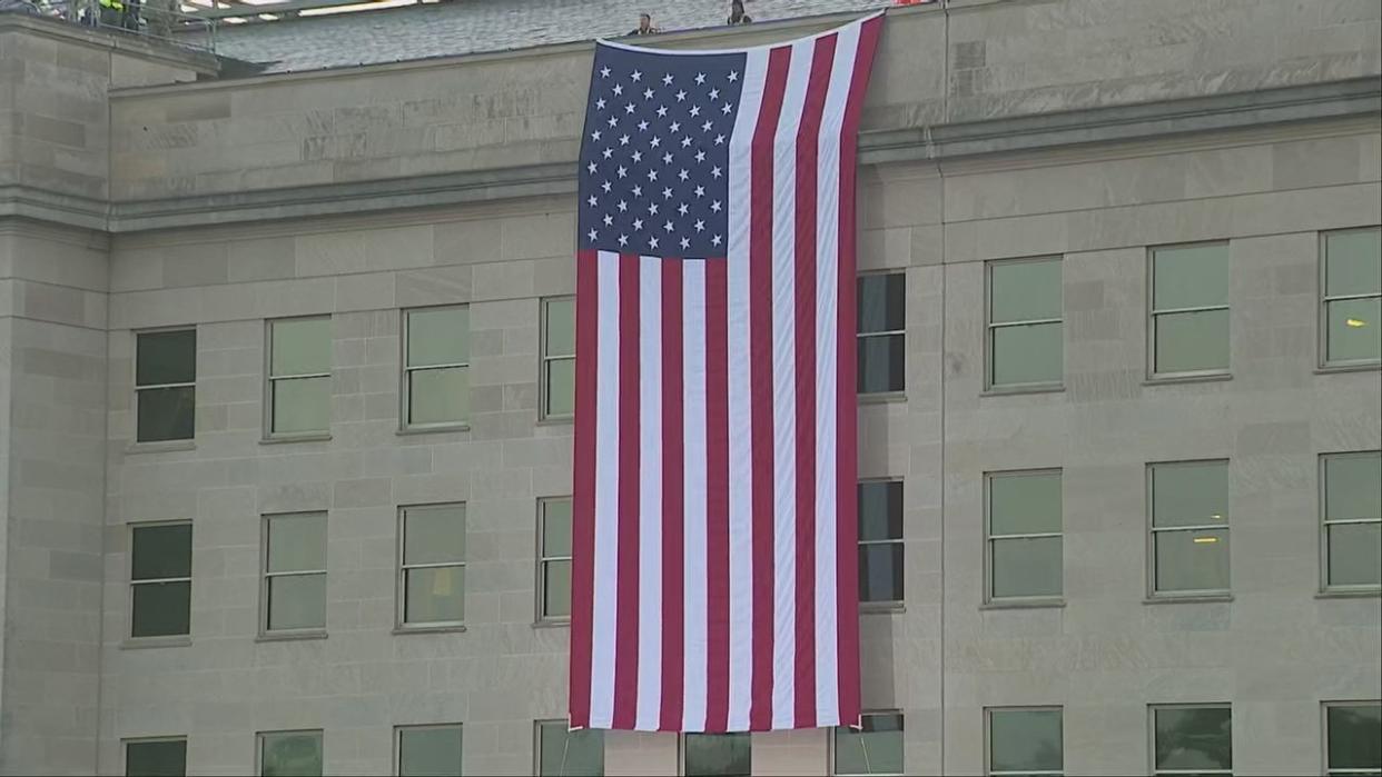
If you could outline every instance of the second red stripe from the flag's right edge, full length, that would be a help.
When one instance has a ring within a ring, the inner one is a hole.
[[[815,727],[815,156],[835,41],[815,41],[796,131],[796,727]]]

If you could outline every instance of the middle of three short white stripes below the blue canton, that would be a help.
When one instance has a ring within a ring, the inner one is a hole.
[[[638,257],[638,705],[662,714],[662,259]]]

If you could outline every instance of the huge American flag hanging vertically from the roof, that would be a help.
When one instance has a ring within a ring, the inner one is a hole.
[[[858,725],[854,152],[880,26],[597,44],[574,729]]]

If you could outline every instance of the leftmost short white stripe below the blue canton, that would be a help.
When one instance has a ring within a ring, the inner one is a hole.
[[[590,628],[590,727],[614,722],[614,633],[619,580],[619,254],[597,255],[596,547]]]

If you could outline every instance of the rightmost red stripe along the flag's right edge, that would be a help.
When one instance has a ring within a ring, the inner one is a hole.
[[[840,128],[840,259],[839,259],[839,364],[836,410],[836,482],[839,500],[836,547],[839,607],[839,679],[840,679],[840,723],[860,723],[860,616],[858,616],[858,402],[855,373],[855,233],[854,224],[854,174],[858,164],[860,106],[868,84],[869,68],[873,63],[873,50],[883,19],[864,22],[860,29],[858,50],[854,54],[854,77],[850,81],[849,101],[844,108],[844,123]]]

